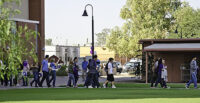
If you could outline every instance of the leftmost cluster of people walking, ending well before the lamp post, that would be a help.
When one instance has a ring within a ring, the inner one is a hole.
[[[44,60],[42,61],[42,64],[33,62],[32,66],[29,66],[29,63],[27,60],[23,61],[21,64],[21,67],[18,68],[18,75],[11,75],[9,78],[7,75],[4,75],[4,79],[1,78],[1,85],[8,86],[19,86],[20,81],[23,81],[22,86],[28,86],[29,85],[29,76],[30,71],[33,73],[33,80],[30,81],[30,86],[33,86],[35,83],[35,87],[42,87],[42,84],[44,80],[46,80],[47,86],[55,87],[55,81],[56,81],[56,71],[59,69],[57,63],[55,63],[55,60],[52,59],[50,61],[50,66],[48,66],[49,56],[46,55]],[[59,61],[59,60],[58,60]],[[49,76],[51,76],[51,79],[49,80]],[[41,79],[42,78],[42,79]]]

